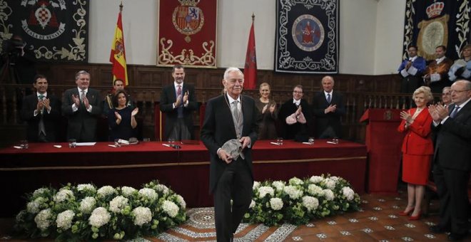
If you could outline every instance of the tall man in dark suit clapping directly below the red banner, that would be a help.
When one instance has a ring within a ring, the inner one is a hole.
[[[185,69],[182,65],[173,66],[173,83],[162,89],[161,112],[166,114],[163,139],[191,140],[193,134],[193,111],[198,108],[195,88],[183,83]]]

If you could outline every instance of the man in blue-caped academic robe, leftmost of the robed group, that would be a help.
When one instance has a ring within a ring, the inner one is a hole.
[[[413,93],[424,84],[422,75],[425,70],[425,59],[417,56],[417,46],[409,46],[407,53],[409,53],[409,58],[402,61],[397,69],[402,77],[401,93]]]

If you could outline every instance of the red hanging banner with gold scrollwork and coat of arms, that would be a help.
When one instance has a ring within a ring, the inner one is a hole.
[[[161,0],[157,65],[216,68],[217,0]]]

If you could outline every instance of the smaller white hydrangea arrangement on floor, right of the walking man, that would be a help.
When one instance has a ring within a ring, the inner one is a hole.
[[[330,174],[307,179],[255,181],[253,200],[243,221],[278,226],[305,224],[312,219],[360,210],[360,196],[350,183]]]

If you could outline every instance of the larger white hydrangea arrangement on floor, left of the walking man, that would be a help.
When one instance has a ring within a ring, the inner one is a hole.
[[[140,190],[67,184],[57,191],[26,194],[16,231],[29,238],[91,241],[156,235],[186,221],[186,202],[167,186],[151,181]]]

